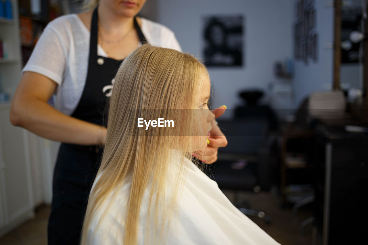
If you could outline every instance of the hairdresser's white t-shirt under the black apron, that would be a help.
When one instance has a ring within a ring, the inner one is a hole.
[[[141,30],[153,46],[181,52],[174,33],[159,23],[142,19]],[[51,21],[38,40],[22,70],[42,74],[58,84],[55,108],[71,115],[84,89],[89,54],[90,32],[77,14],[68,14]],[[107,57],[98,45],[99,56]]]

